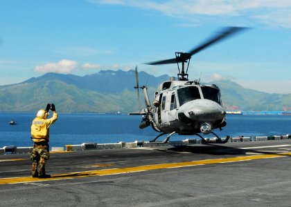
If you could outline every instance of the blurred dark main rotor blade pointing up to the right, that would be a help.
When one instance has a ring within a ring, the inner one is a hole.
[[[201,50],[204,50],[205,48],[208,48],[209,46],[213,45],[214,43],[218,43],[219,41],[222,41],[223,39],[226,39],[227,37],[231,37],[231,35],[243,31],[247,28],[240,28],[240,27],[228,27],[224,28],[224,30],[220,31],[218,35],[215,35],[211,39],[205,41],[200,46],[194,48],[190,52],[188,52],[191,56],[195,55],[197,52],[200,52]]]

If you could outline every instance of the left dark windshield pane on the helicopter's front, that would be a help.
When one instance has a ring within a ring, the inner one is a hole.
[[[177,95],[178,95],[180,106],[182,106],[184,103],[187,103],[188,101],[201,99],[199,90],[196,86],[179,88],[177,90]]]

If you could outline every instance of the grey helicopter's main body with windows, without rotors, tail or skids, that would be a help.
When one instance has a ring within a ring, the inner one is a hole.
[[[166,81],[155,92],[154,128],[179,135],[208,134],[226,125],[220,89],[195,81]]]

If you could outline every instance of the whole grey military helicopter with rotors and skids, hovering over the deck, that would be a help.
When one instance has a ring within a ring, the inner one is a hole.
[[[222,130],[227,126],[225,121],[226,111],[222,107],[220,88],[215,84],[200,84],[200,79],[191,81],[188,79],[187,72],[191,57],[197,52],[245,29],[241,27],[224,28],[190,52],[175,52],[175,58],[173,59],[145,63],[148,65],[177,63],[179,71],[177,80],[175,77],[171,77],[170,81],[164,81],[159,85],[152,104],[148,96],[148,88],[139,86],[139,72],[136,66],[136,86],[134,88],[137,90],[138,99],[139,89],[143,90],[145,108],[141,112],[130,113],[130,115],[142,115],[139,128],[152,126],[153,130],[160,133],[151,142],[166,143],[175,133],[178,135],[197,135],[202,139],[202,144],[208,143],[202,135],[209,135],[210,133],[217,137],[216,143],[226,143],[228,141],[229,136],[222,140],[213,132],[215,129]],[[157,141],[163,135],[167,135],[166,139]]]

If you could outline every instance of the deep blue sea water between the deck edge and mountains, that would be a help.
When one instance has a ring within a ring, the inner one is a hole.
[[[30,125],[34,118],[35,113],[0,113],[0,148],[3,146],[32,146]],[[17,125],[10,126],[8,122],[11,119],[14,119]],[[59,113],[58,121],[50,128],[50,146],[150,141],[159,135],[150,126],[143,130],[139,129],[140,121],[140,116]],[[291,116],[227,115],[227,126],[222,131],[215,130],[214,132],[220,137],[291,134]],[[195,137],[173,135],[170,140]],[[213,135],[205,137],[213,137]]]

